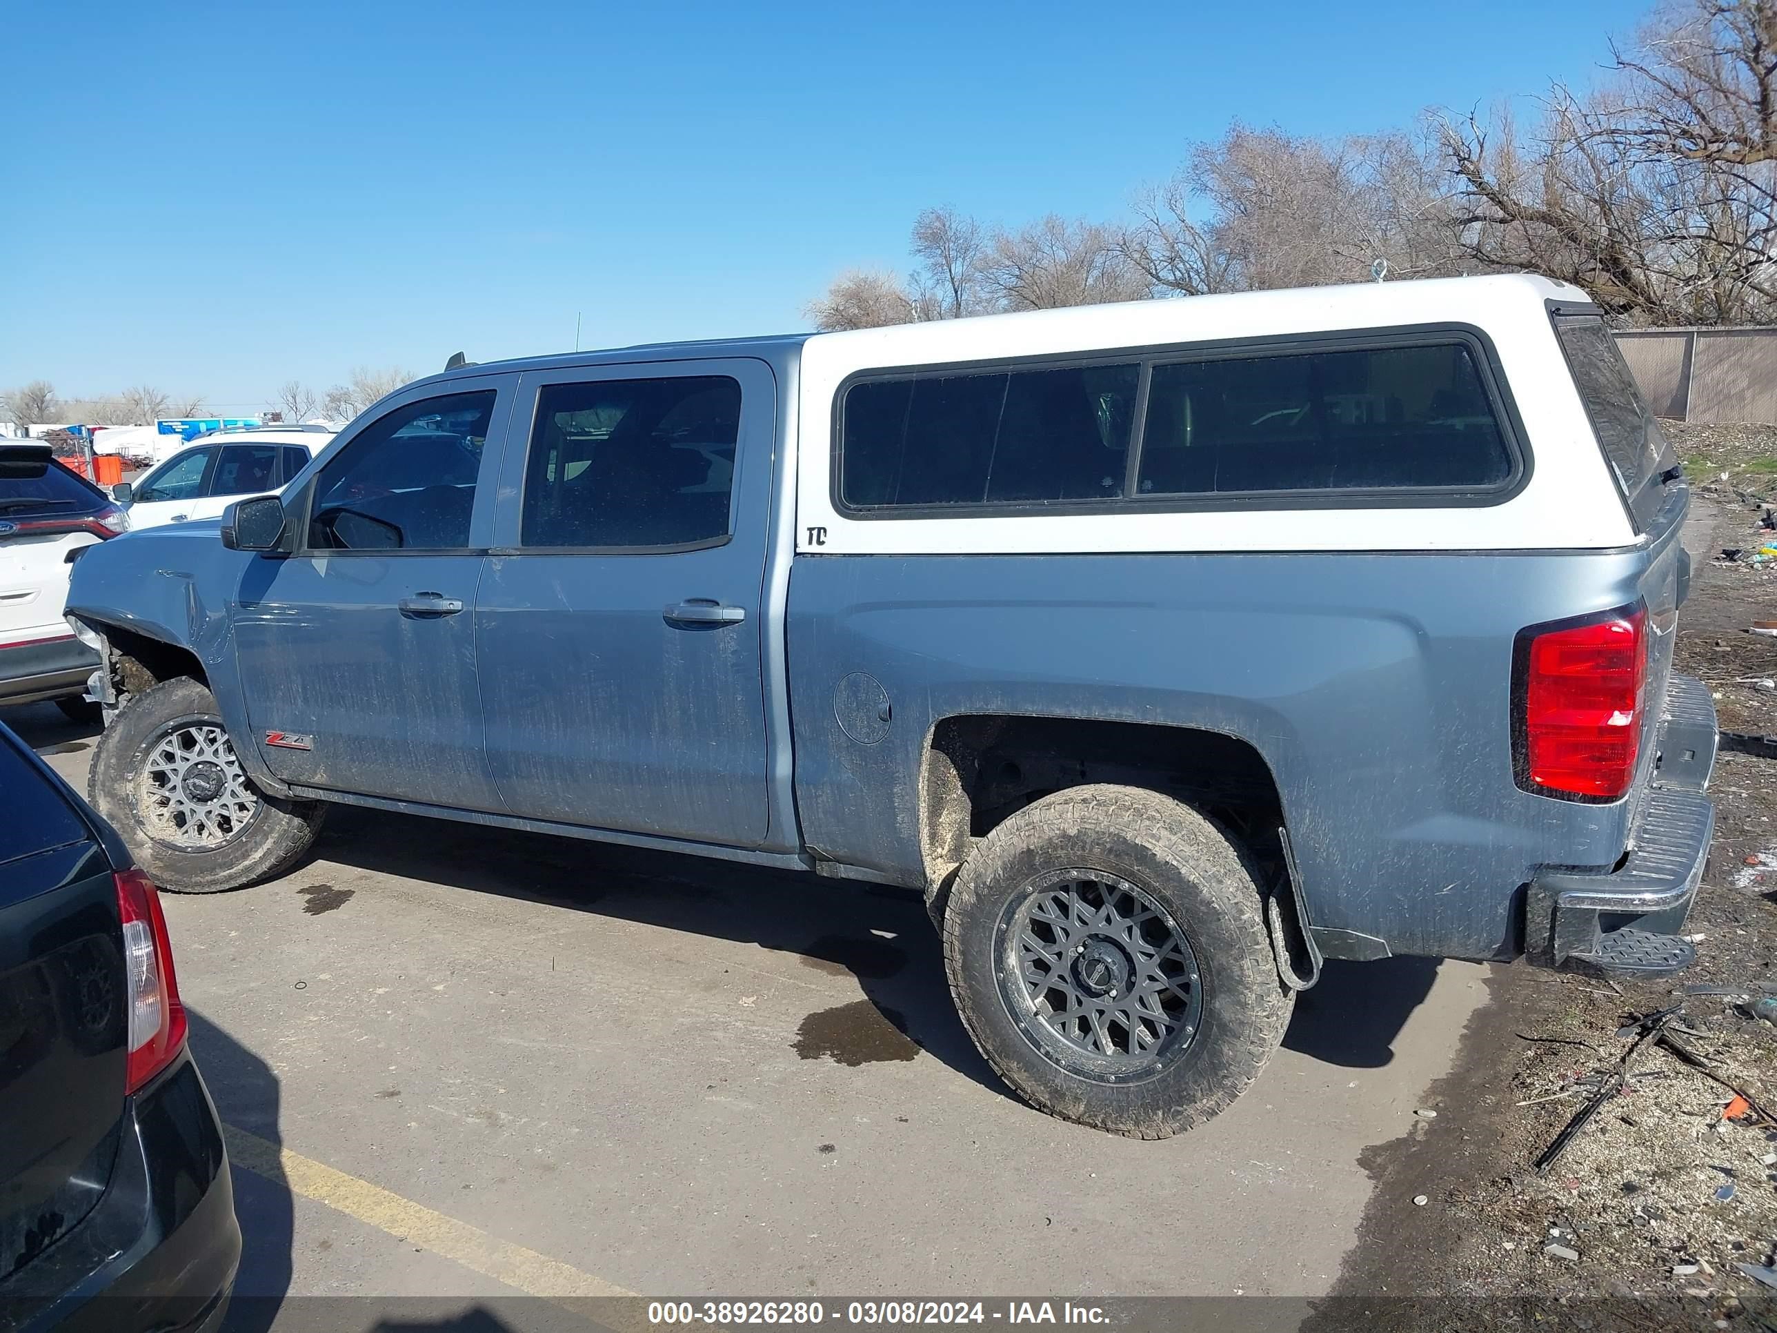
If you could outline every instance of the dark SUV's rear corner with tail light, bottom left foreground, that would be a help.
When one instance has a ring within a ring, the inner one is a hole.
[[[155,885],[0,725],[0,1328],[213,1329],[240,1226]]]

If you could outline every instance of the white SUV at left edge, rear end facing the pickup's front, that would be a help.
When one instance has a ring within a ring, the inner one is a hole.
[[[48,444],[0,444],[0,704],[53,698],[71,718],[98,716],[82,695],[100,658],[68,627],[62,601],[82,551],[128,526]]]

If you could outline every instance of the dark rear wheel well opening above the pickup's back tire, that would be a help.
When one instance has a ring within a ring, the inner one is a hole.
[[[933,727],[920,775],[928,885],[944,885],[974,839],[1025,805],[1093,782],[1189,802],[1239,835],[1269,873],[1281,867],[1283,800],[1251,745],[1194,727],[968,714]]]

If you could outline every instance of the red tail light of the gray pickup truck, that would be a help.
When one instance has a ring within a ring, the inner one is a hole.
[[[1615,800],[1635,780],[1647,677],[1647,608],[1519,635],[1518,786]]]

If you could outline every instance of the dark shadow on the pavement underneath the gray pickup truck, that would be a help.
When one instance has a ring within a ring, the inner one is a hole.
[[[951,1006],[938,937],[913,890],[355,807],[329,814],[315,853],[364,871],[757,944],[817,972],[849,974],[862,999],[807,1015],[794,1043],[800,1056],[857,1066],[928,1050],[1009,1097]],[[1388,1065],[1436,972],[1432,958],[1331,962],[1299,999],[1283,1045],[1343,1068]]]

